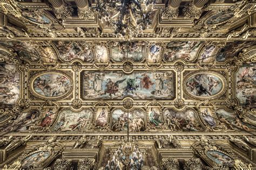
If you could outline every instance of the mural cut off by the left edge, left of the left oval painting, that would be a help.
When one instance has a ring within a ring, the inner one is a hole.
[[[0,105],[13,105],[19,98],[19,72],[15,65],[0,62]]]

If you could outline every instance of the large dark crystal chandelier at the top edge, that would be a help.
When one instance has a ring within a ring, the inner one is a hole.
[[[151,10],[148,7],[152,4]],[[116,37],[131,40],[139,33],[143,33],[151,24],[150,14],[156,0],[97,0],[92,9],[98,13],[101,22],[109,22],[113,26]],[[145,6],[143,9],[142,6]],[[113,15],[111,16],[111,12]]]

